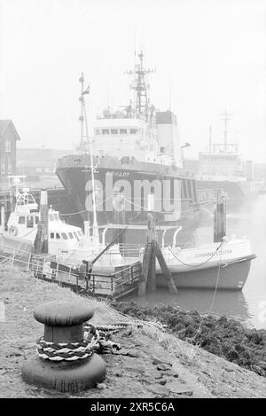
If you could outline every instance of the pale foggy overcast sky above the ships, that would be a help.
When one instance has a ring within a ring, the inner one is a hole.
[[[78,82],[98,109],[129,102],[134,50],[143,49],[151,98],[177,115],[195,157],[229,137],[244,158],[266,162],[266,1],[0,0],[0,118],[20,146],[71,148],[79,141]],[[170,92],[171,91],[171,92]]]

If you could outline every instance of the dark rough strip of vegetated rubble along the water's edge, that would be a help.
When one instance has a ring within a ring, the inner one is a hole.
[[[236,318],[200,314],[176,305],[115,302],[113,307],[130,317],[155,318],[178,339],[266,377],[266,329],[251,329]]]

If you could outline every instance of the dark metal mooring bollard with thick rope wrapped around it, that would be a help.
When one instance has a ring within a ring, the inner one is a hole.
[[[28,384],[76,393],[94,388],[106,378],[106,363],[93,352],[93,339],[85,340],[83,323],[92,318],[89,302],[47,302],[34,317],[44,324],[37,341],[38,356],[27,359],[22,378]]]

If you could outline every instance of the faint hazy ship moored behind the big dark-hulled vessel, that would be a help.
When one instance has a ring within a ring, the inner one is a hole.
[[[242,161],[239,145],[228,141],[226,109],[223,116],[223,143],[212,143],[211,127],[208,149],[199,154],[198,186],[202,199],[215,196],[220,190],[231,202],[238,202],[253,196],[256,192],[254,166],[252,161]]]

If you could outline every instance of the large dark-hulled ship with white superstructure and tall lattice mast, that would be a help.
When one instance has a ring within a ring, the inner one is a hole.
[[[127,242],[145,241],[147,212],[152,210],[160,235],[168,241],[176,227],[197,220],[199,214],[196,180],[184,169],[176,115],[151,105],[146,76],[152,70],[145,69],[143,58],[139,53],[128,72],[134,95],[129,106],[115,112],[106,108],[90,138],[84,105],[89,90],[81,76],[79,152],[59,159],[56,169],[82,221],[91,224],[97,208],[98,226],[108,230],[105,239],[112,237],[110,230],[127,226]]]

